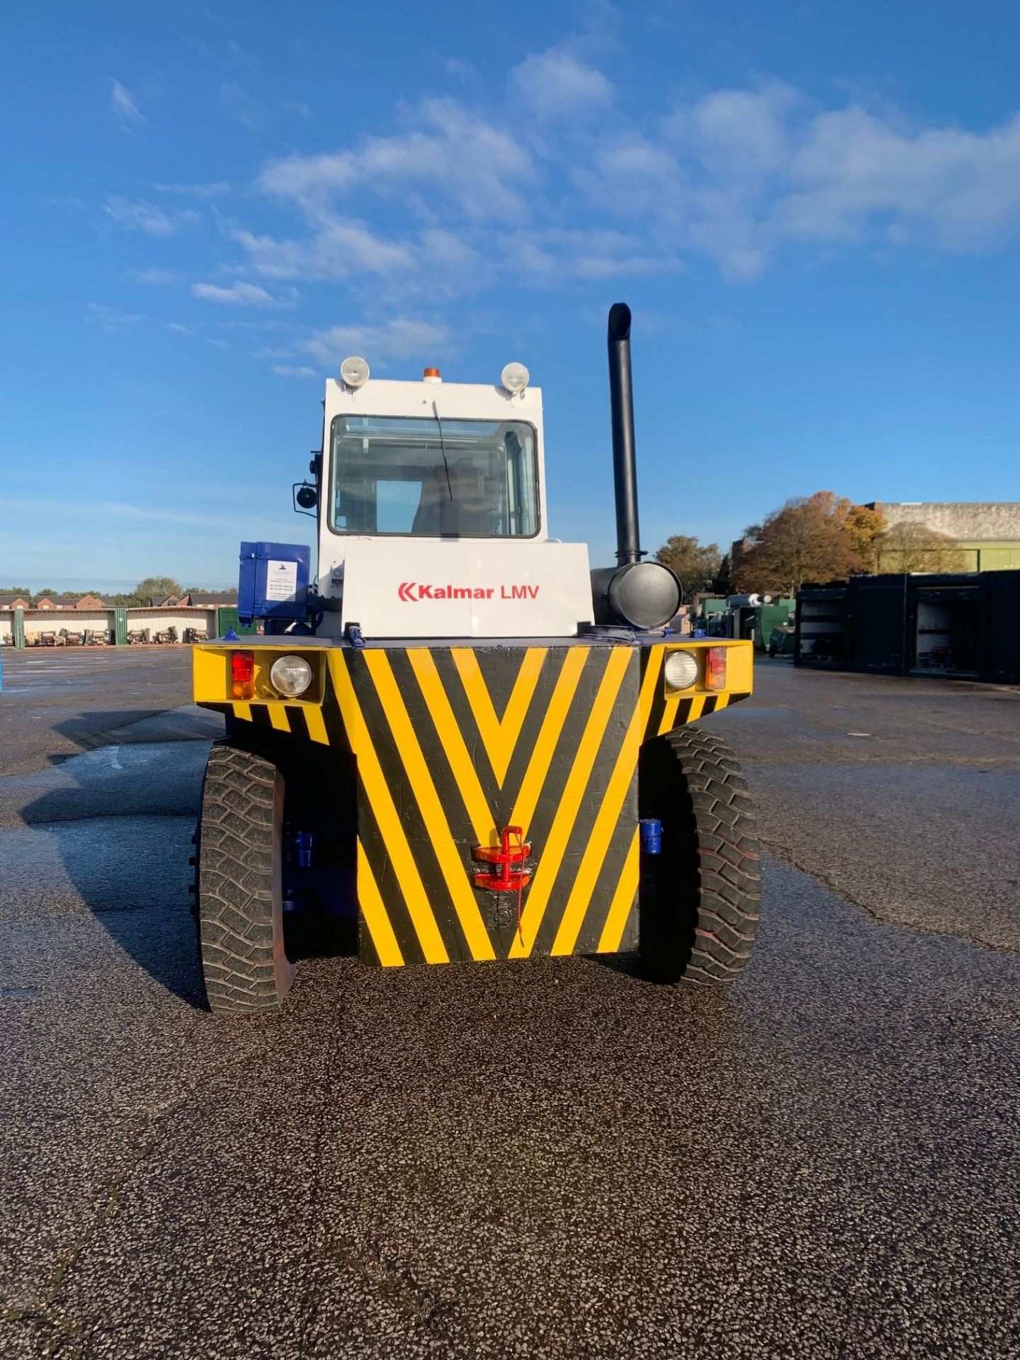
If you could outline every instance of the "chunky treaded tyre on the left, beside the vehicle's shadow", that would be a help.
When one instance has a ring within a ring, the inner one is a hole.
[[[218,1015],[276,1010],[294,979],[283,933],[280,770],[218,741],[196,836],[196,915],[205,994]]]

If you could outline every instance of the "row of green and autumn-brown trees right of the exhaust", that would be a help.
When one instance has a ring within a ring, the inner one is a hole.
[[[832,491],[794,496],[748,525],[734,552],[673,534],[656,554],[684,594],[748,590],[793,597],[802,585],[843,581],[861,571],[964,571],[955,539],[921,524],[888,525],[879,510]]]

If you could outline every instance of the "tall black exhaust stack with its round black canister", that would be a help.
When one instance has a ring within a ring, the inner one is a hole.
[[[631,309],[609,309],[609,408],[616,494],[616,566],[592,573],[597,624],[661,628],[683,600],[680,582],[661,562],[642,562],[638,529],[638,465],[634,456],[634,389],[631,386]]]

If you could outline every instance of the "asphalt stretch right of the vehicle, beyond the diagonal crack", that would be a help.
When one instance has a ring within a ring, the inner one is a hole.
[[[880,921],[1020,952],[1020,691],[756,664],[706,719],[766,846]]]

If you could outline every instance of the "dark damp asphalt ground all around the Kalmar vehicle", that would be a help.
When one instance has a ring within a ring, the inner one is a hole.
[[[709,719],[772,851],[728,996],[313,959],[223,1021],[186,651],[4,685],[4,1357],[1020,1356],[1017,692]]]

